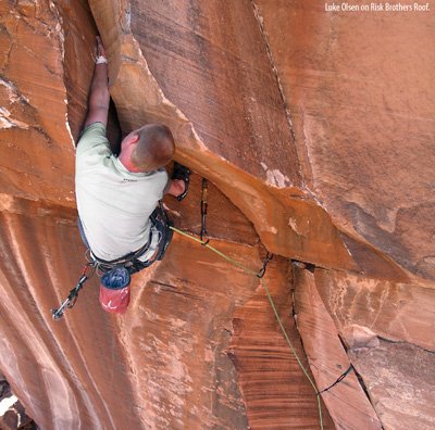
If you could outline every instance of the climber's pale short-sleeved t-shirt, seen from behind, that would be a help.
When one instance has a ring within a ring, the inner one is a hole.
[[[113,155],[104,125],[89,125],[77,144],[75,192],[92,253],[111,261],[144,246],[151,227],[149,216],[166,184],[164,168],[128,172]]]

